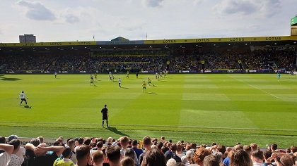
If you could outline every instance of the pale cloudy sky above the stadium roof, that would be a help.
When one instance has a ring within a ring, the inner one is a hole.
[[[1,0],[0,43],[289,36],[296,0]]]

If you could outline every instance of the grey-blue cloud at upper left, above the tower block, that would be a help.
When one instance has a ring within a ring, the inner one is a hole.
[[[20,0],[16,5],[25,9],[25,15],[32,20],[56,20],[54,13],[39,1]]]

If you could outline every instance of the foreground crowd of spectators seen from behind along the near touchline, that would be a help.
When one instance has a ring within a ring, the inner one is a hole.
[[[110,166],[293,166],[297,165],[297,146],[286,151],[272,143],[261,151],[256,143],[226,147],[216,143],[210,146],[172,140],[151,139],[141,141],[122,136],[120,139],[69,138],[60,136],[47,146],[43,137],[33,138],[21,147],[18,136],[0,137],[0,165],[52,166],[52,165],[110,165]]]

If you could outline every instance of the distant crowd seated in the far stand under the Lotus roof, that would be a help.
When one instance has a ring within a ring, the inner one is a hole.
[[[245,53],[232,51],[206,51],[192,53],[168,53],[155,55],[88,55],[88,53],[53,55],[0,56],[1,72],[24,71],[67,71],[67,72],[109,72],[117,70],[161,71],[170,62],[171,71],[180,70],[296,70],[296,52],[291,50],[256,49]],[[204,63],[202,63],[204,61]],[[205,64],[202,67],[202,64]]]

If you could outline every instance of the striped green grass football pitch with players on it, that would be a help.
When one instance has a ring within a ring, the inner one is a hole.
[[[280,82],[276,74],[114,76],[98,75],[93,86],[90,75],[0,75],[0,136],[297,145],[296,75],[283,74]],[[148,77],[154,86],[143,93]],[[29,107],[20,106],[21,91]],[[105,104],[110,128],[102,127]]]

